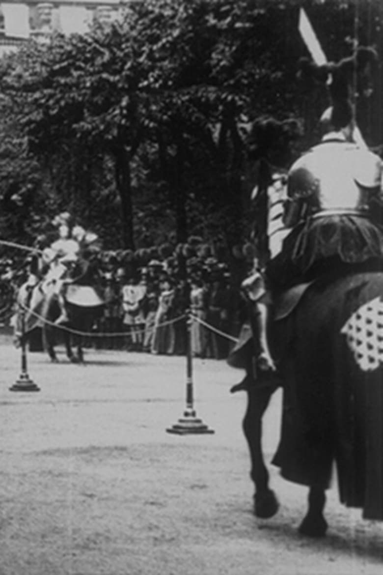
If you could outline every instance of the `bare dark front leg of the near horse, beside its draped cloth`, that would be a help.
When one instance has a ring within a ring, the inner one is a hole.
[[[268,519],[278,511],[278,500],[269,488],[269,472],[262,452],[262,416],[269,405],[274,392],[272,386],[253,385],[247,388],[247,409],[243,418],[243,432],[249,445],[252,469],[250,477],[256,486],[254,494],[254,513],[257,517]]]

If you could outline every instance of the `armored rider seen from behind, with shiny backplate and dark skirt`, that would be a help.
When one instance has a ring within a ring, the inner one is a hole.
[[[349,102],[335,101],[323,120],[328,131],[322,141],[289,170],[284,224],[292,231],[264,276],[253,274],[242,283],[254,302],[257,363],[264,371],[276,370],[266,338],[270,294],[274,300],[298,283],[345,274],[350,267],[382,269],[383,228],[373,217],[374,202],[377,208],[383,200],[381,159],[355,133]]]

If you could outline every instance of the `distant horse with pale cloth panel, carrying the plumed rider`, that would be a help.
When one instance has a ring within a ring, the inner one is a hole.
[[[86,270],[87,271],[87,270]],[[83,336],[91,332],[95,319],[102,312],[103,301],[92,287],[92,279],[88,273],[78,276],[77,283],[68,286],[66,307],[68,323],[55,325],[60,315],[59,302],[53,289],[42,290],[42,283],[29,286],[28,282],[20,287],[17,296],[18,319],[16,335],[20,338],[21,313],[24,312],[24,338],[28,339],[33,329],[40,327],[44,334],[45,347],[53,362],[57,362],[55,344],[62,336],[68,359],[72,362],[83,362]],[[72,344],[76,346],[73,353]]]

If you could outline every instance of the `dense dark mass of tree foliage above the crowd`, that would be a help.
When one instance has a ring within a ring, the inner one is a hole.
[[[3,57],[1,235],[32,242],[65,208],[108,248],[249,236],[260,160],[287,167],[328,103],[326,87],[297,81],[302,5],[329,59],[355,35],[381,48],[378,0],[145,0]],[[380,90],[359,100],[374,145]],[[279,131],[254,129],[267,116]]]

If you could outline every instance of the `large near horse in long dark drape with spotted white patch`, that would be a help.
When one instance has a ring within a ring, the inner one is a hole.
[[[309,488],[300,532],[326,534],[323,510],[334,462],[341,503],[361,508],[365,519],[383,520],[383,273],[315,281],[277,309],[269,329],[277,377],[254,378],[250,325],[229,356],[229,365],[246,370],[233,391],[248,395],[243,430],[256,486],[254,512],[267,518],[278,509],[261,438],[262,416],[282,386],[273,463],[284,478]]]

